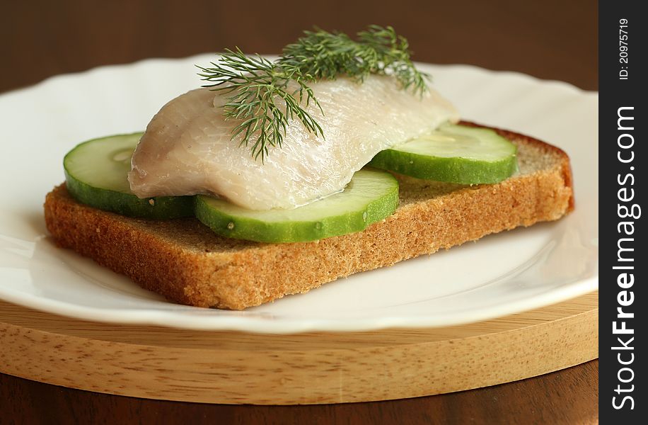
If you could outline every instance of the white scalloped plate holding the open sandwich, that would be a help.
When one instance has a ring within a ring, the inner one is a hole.
[[[328,283],[243,312],[175,305],[72,251],[42,217],[78,142],[141,130],[163,103],[199,86],[194,64],[145,60],[47,79],[0,96],[0,297],[104,322],[289,333],[436,327],[500,317],[598,287],[598,94],[557,81],[422,65],[463,118],[523,132],[572,158],[577,209],[559,222],[485,237]]]

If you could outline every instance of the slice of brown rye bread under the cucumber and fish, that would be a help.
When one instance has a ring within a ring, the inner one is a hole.
[[[363,232],[316,242],[248,242],[220,237],[193,218],[123,217],[77,203],[64,184],[47,194],[45,221],[60,246],[169,300],[241,310],[572,210],[567,154],[532,137],[497,132],[518,146],[519,172],[511,178],[463,186],[397,176],[395,214]]]

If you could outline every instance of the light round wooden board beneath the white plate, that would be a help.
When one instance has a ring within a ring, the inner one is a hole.
[[[86,322],[0,301],[0,372],[152,399],[399,399],[510,382],[597,357],[598,292],[454,327],[294,335]]]

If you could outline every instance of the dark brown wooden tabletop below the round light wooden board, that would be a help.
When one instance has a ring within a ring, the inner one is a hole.
[[[1,424],[596,424],[598,361],[480,390],[386,402],[249,406],[70,390],[0,374]]]

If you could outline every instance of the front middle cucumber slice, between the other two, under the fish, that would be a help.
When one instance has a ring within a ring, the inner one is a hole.
[[[344,191],[292,210],[248,210],[199,195],[196,217],[217,234],[258,242],[306,242],[359,232],[393,214],[398,181],[388,173],[357,171]]]

